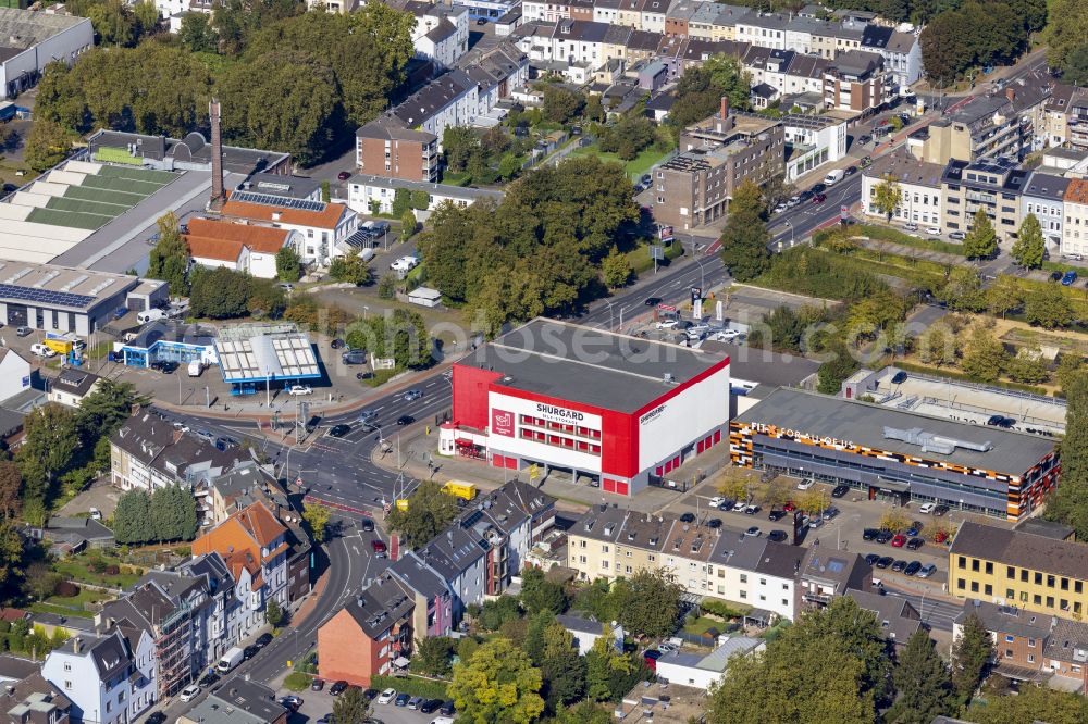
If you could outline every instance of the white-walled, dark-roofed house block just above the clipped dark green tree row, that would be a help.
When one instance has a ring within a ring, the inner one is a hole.
[[[140,410],[110,437],[110,477],[122,490],[153,491],[175,484],[191,490],[234,467],[239,454],[237,448],[219,450]]]

